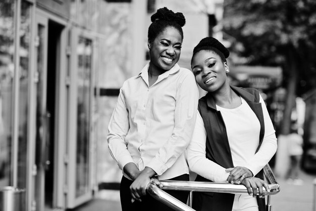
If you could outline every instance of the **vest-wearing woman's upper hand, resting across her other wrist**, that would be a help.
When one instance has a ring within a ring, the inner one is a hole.
[[[225,171],[230,173],[227,182],[231,184],[241,184],[245,178],[253,177],[252,172],[243,166],[227,168]]]

